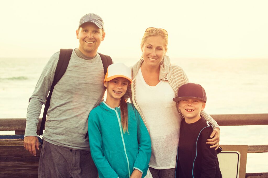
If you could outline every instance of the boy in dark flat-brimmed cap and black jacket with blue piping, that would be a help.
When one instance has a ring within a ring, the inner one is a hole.
[[[184,115],[181,121],[175,177],[221,178],[216,150],[206,144],[213,128],[200,116],[207,101],[204,88],[195,83],[184,84],[173,100],[178,102]]]

